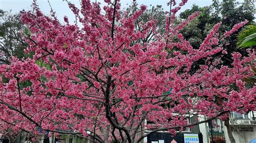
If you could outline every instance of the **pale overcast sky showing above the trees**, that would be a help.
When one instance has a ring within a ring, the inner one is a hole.
[[[68,4],[66,2],[63,2],[63,0],[49,0],[52,6],[52,9],[56,11],[58,19],[63,21],[64,16],[68,16],[70,19],[70,22],[72,22],[73,14],[71,10],[68,8]],[[79,6],[79,0],[69,0],[72,3]],[[95,0],[94,0],[95,1]],[[170,0],[169,0],[170,1]],[[177,2],[180,2],[181,0],[177,0]],[[240,2],[244,0],[238,0]],[[37,0],[39,7],[41,10],[47,14],[50,13],[50,6],[48,4],[47,0]],[[97,2],[100,2],[104,4],[104,0],[97,0]],[[127,6],[126,4],[130,4],[132,0],[121,0],[122,8],[125,8]],[[166,5],[168,0],[137,0],[139,4],[145,4],[145,5],[163,5],[163,8],[165,11],[169,11],[169,7]],[[0,9],[4,11],[10,11],[12,10],[12,13],[17,13],[21,10],[30,10],[30,5],[32,3],[32,0],[0,0]],[[183,8],[180,11],[184,11],[185,9],[190,9],[193,4],[197,4],[199,6],[208,6],[212,4],[212,0],[188,0],[187,4],[183,6]]]

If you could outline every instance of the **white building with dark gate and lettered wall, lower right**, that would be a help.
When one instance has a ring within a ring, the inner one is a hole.
[[[198,121],[205,119],[207,117],[199,116]],[[189,121],[193,122],[193,117]],[[229,123],[235,142],[256,143],[256,111],[250,111],[245,114],[232,112],[230,113]],[[144,143],[186,143],[185,136],[190,134],[196,135],[200,143],[232,143],[228,137],[227,127],[224,121],[220,119],[213,119],[194,126],[184,132],[178,133],[175,137],[171,137],[171,134],[164,131],[153,133],[147,138],[144,138]],[[173,140],[176,142],[172,142]]]

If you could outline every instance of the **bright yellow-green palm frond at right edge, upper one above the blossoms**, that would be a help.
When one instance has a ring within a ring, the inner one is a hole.
[[[238,34],[238,48],[249,48],[256,45],[256,25],[249,25]]]

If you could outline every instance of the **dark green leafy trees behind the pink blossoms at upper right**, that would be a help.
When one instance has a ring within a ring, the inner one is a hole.
[[[223,33],[231,30],[234,24],[240,23],[245,19],[251,24],[254,23],[255,6],[250,1],[238,3],[235,0],[224,0],[222,2],[213,0],[213,4],[210,7],[193,5],[191,9],[181,12],[179,18],[186,19],[196,11],[201,12],[198,18],[181,31],[185,39],[192,42],[194,48],[199,46],[199,41],[203,41],[211,27],[218,22],[222,22],[220,31]],[[231,38],[226,41],[230,44],[225,47],[228,53],[232,53],[236,49],[235,39],[237,39],[237,33],[239,31],[232,34]],[[198,36],[195,38],[195,35]],[[231,57],[228,57],[228,59],[232,60]]]

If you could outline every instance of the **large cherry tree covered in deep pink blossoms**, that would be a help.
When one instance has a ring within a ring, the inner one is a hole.
[[[216,24],[194,49],[179,31],[199,12],[173,24],[186,0],[168,3],[164,35],[157,32],[153,17],[146,23],[137,20],[145,5],[131,15],[122,13],[120,0],[104,2],[103,9],[89,0],[83,0],[80,9],[68,2],[75,24],[68,17],[59,22],[53,10],[51,16],[44,15],[36,2],[33,11],[22,11],[31,32],[24,35],[30,45],[25,52],[33,58],[13,56],[10,65],[0,65],[8,79],[0,84],[1,128],[22,130],[31,137],[39,129],[99,142],[138,142],[157,131],[174,135],[217,117],[225,119],[230,111],[255,110],[256,88],[247,89],[242,81],[252,75],[255,52],[248,50],[248,57],[233,53],[230,67],[211,60],[214,54],[226,54],[220,41],[247,21],[224,35],[218,34],[221,23]],[[154,40],[145,42],[152,33]],[[193,62],[202,58],[208,61],[191,74]],[[208,119],[187,123],[188,114]]]

